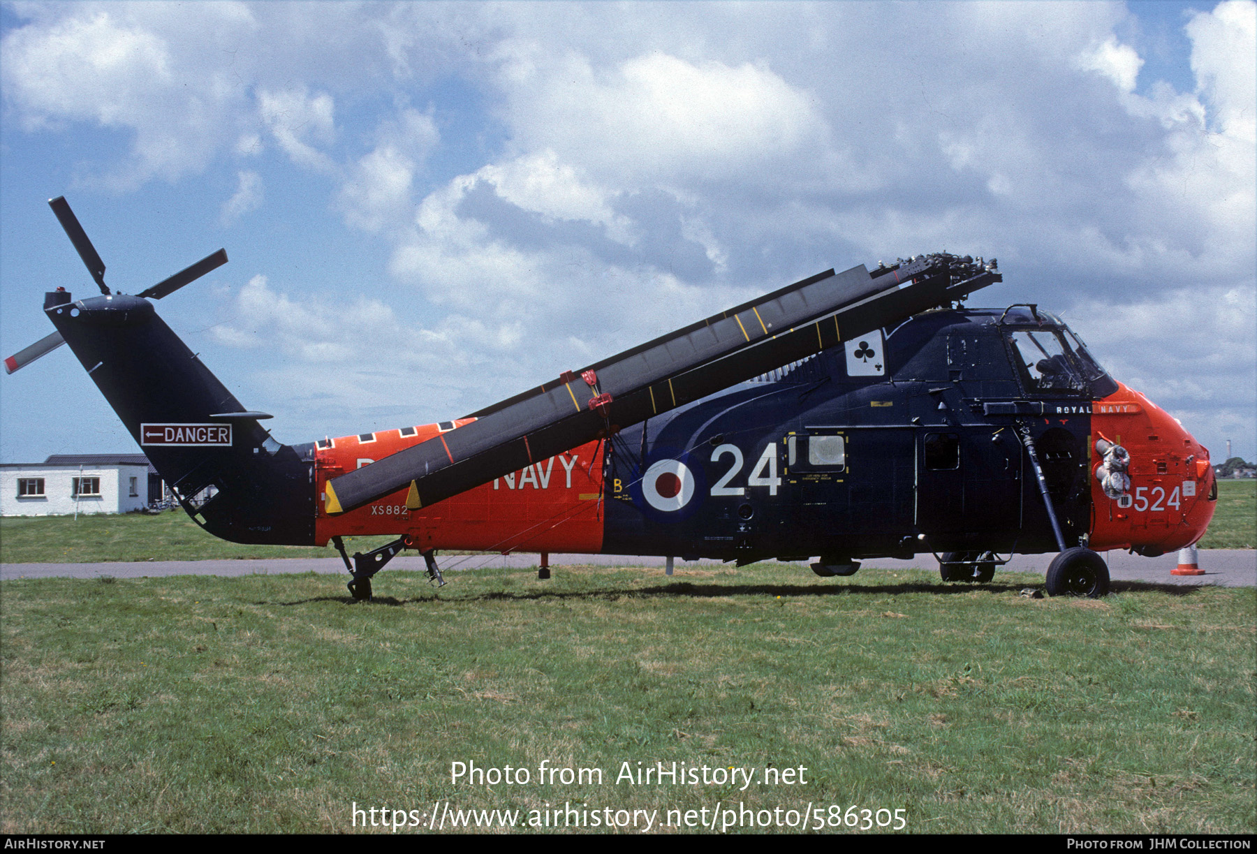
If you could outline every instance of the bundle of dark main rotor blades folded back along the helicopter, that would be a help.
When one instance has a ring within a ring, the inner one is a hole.
[[[596,377],[568,372],[458,430],[329,479],[326,509],[352,511],[407,484],[407,507],[431,506],[1001,280],[994,263],[945,254],[876,273],[856,267],[806,279],[598,362]]]

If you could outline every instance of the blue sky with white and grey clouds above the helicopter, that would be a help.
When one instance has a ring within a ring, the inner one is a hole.
[[[446,420],[827,268],[996,257],[1257,457],[1257,13],[1226,3],[0,5],[0,350],[64,195],[284,443]],[[0,462],[134,453],[67,348]]]

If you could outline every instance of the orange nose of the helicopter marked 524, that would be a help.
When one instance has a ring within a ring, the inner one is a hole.
[[[1092,402],[1091,434],[1092,548],[1155,556],[1204,535],[1217,502],[1209,450],[1177,419],[1119,382],[1117,391]],[[1120,454],[1097,450],[1101,439],[1125,448],[1124,472]],[[1115,474],[1126,474],[1129,485]]]

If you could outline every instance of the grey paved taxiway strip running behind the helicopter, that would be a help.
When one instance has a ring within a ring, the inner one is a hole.
[[[1175,585],[1222,585],[1226,587],[1254,587],[1257,586],[1257,551],[1239,548],[1208,548],[1199,551],[1198,565],[1204,570],[1204,575],[1179,576],[1170,575],[1170,570],[1178,566],[1178,553],[1163,555],[1161,557],[1140,557],[1128,552],[1102,552],[1109,561],[1109,575],[1114,581],[1150,581],[1156,584]],[[1047,572],[1047,565],[1055,555],[1017,555],[1004,570],[1017,572]],[[447,555],[439,556],[437,562],[442,572],[458,570],[478,570],[488,567],[530,567],[537,566],[537,555],[520,552],[515,555]],[[641,566],[657,568],[662,574],[662,557],[625,557],[620,555],[551,555],[551,566],[562,567],[571,565],[596,565],[596,566]],[[683,574],[686,566],[716,565],[719,561],[676,561],[676,571]],[[938,571],[938,563],[928,555],[920,555],[911,561],[871,560],[864,562],[865,567],[882,568],[924,568]],[[388,563],[385,570],[422,570],[424,558],[419,556],[401,556]],[[799,571],[807,572],[807,567],[798,565]],[[280,558],[280,560],[245,560],[245,561],[147,561],[147,562],[116,562],[116,563],[0,563],[0,580],[10,579],[96,579],[112,576],[114,579],[138,579],[143,576],[166,575],[284,575],[295,572],[326,572],[338,574],[348,579],[344,563],[339,557],[314,557],[314,558]],[[857,576],[859,577],[859,576]],[[999,581],[999,574],[996,574]],[[842,580],[837,579],[841,584]]]

